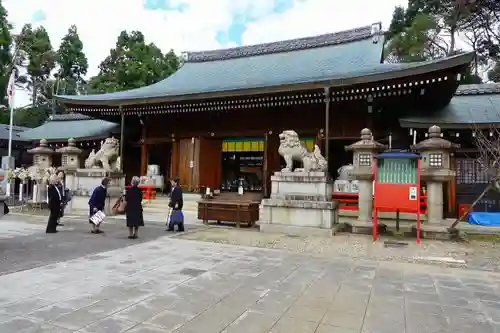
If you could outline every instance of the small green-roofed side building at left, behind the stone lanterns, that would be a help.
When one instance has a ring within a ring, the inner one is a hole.
[[[81,161],[85,161],[92,149],[98,150],[101,141],[110,135],[119,137],[118,124],[78,113],[52,115],[43,125],[19,134],[22,140],[32,144],[45,139],[49,147],[54,149],[67,146],[68,139],[73,138],[76,147],[83,150]],[[54,157],[54,165],[61,165],[61,157],[57,155]]]

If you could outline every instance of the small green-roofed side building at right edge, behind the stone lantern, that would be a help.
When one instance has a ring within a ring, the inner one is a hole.
[[[475,145],[474,134],[478,130],[492,133],[500,128],[500,84],[460,85],[444,107],[427,114],[421,112],[402,117],[399,122],[410,135],[418,137],[426,135],[427,129],[437,124],[445,139],[460,144],[452,157],[457,176],[445,184],[445,211],[453,217],[467,209],[492,179],[477,158],[480,151]],[[474,209],[500,211],[500,194],[490,191]]]

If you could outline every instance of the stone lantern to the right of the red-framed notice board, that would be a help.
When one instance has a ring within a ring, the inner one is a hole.
[[[443,183],[456,175],[451,166],[451,153],[459,148],[441,137],[441,128],[431,126],[428,139],[411,148],[417,150],[422,159],[421,177],[427,185],[427,220],[429,224],[440,224],[443,220]]]

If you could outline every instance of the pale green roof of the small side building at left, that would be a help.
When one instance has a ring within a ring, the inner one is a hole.
[[[27,141],[47,139],[49,141],[74,138],[83,140],[96,137],[107,137],[109,132],[119,126],[109,121],[93,119],[81,114],[63,114],[52,116],[45,124],[19,134]]]

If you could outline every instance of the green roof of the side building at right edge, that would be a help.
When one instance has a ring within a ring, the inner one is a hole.
[[[399,120],[402,127],[468,128],[472,124],[488,127],[500,124],[500,84],[459,86],[450,103],[427,117],[406,117]]]

